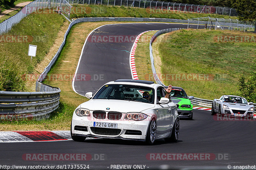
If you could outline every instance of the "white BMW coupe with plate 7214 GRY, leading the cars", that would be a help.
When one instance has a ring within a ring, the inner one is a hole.
[[[165,98],[163,86],[153,81],[119,79],[104,84],[91,100],[73,113],[71,137],[121,138],[146,141],[156,139],[177,142],[180,121],[177,106]]]

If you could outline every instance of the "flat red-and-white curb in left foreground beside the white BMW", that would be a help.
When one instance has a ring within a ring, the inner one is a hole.
[[[87,138],[86,138],[87,139]],[[4,131],[0,143],[72,140],[70,131]]]

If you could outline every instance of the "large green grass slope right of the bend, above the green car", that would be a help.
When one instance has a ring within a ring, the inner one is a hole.
[[[250,75],[256,44],[217,42],[214,39],[217,36],[251,37],[254,34],[215,30],[180,30],[165,34],[156,45],[164,84],[182,87],[188,95],[205,99],[239,95],[237,81],[241,74]]]

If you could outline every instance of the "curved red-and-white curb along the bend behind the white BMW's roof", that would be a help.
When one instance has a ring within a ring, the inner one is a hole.
[[[150,31],[157,31],[157,30],[150,30]],[[146,32],[150,32],[150,31],[145,31],[145,32],[140,33],[136,37],[136,39],[135,39],[135,41],[134,41],[134,43],[132,45],[132,49],[131,49],[131,52],[130,52],[130,68],[131,68],[132,79],[133,80],[139,80],[138,74],[137,74],[137,71],[136,71],[136,67],[135,67],[135,51],[136,51],[136,48],[137,48],[137,43],[138,43],[141,35],[143,35]]]

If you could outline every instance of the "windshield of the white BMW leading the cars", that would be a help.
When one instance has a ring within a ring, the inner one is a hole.
[[[154,103],[154,89],[144,86],[108,84],[103,86],[93,99],[130,100]]]

